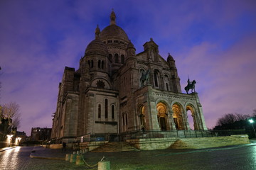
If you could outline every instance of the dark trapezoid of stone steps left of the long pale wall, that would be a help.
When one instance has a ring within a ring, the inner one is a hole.
[[[136,147],[129,145],[128,142],[107,142],[91,152],[124,152],[124,151],[138,151]]]

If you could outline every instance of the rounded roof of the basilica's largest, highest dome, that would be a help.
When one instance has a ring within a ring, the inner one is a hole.
[[[127,34],[124,32],[124,30],[115,24],[107,26],[100,33],[101,40],[107,40],[107,39],[112,39],[112,38],[129,41],[129,38],[128,38]]]

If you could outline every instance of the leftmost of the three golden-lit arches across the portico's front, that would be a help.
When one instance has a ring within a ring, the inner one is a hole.
[[[158,103],[156,105],[157,119],[161,130],[167,130],[167,110],[164,103]]]

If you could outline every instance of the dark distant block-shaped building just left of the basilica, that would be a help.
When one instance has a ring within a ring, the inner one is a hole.
[[[32,128],[31,141],[50,140],[51,128]]]

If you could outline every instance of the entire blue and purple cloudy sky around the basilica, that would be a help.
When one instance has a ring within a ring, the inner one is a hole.
[[[51,128],[65,66],[78,69],[112,8],[137,53],[153,38],[162,57],[176,60],[182,89],[188,74],[196,79],[208,128],[225,113],[256,108],[255,0],[1,0],[0,103],[19,104],[19,131]]]

